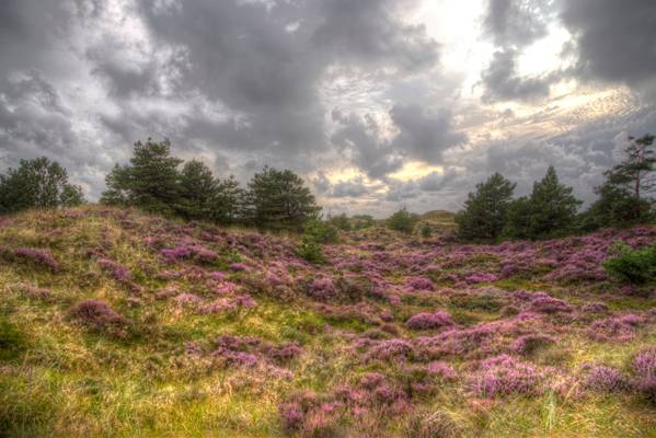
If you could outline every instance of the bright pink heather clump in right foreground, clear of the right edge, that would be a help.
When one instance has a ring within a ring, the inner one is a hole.
[[[470,378],[474,393],[484,397],[508,394],[536,394],[544,373],[528,362],[521,362],[508,355],[483,360]]]

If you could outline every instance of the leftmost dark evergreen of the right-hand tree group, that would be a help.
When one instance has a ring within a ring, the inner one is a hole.
[[[476,185],[464,209],[456,215],[458,235],[464,240],[496,240],[506,226],[506,215],[515,184],[499,173]]]

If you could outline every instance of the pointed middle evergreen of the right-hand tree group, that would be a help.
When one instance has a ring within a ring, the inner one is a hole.
[[[506,233],[519,239],[546,239],[568,233],[582,204],[572,191],[559,182],[555,169],[549,166],[542,181],[533,184],[531,195],[510,205]]]

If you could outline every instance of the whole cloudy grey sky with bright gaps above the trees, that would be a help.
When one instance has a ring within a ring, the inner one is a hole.
[[[133,143],[326,214],[458,210],[546,168],[589,203],[656,134],[654,0],[2,0],[0,172],[48,157],[90,200]]]

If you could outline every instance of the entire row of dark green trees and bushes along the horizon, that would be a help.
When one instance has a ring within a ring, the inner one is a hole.
[[[601,227],[624,228],[656,218],[654,136],[629,137],[624,160],[605,172],[597,200],[579,212],[582,201],[561,184],[550,166],[532,192],[514,197],[516,184],[499,173],[476,185],[456,215],[458,235],[465,241],[548,239]],[[289,170],[264,166],[246,187],[234,176],[216,177],[198,160],[171,155],[169,140],[148,139],[134,145],[127,164],[106,175],[101,204],[138,207],[149,212],[205,220],[223,226],[245,224],[269,230],[310,230],[312,242],[327,242],[335,230],[370,227],[370,216],[346,215],[320,219],[321,207],[302,178]],[[0,175],[0,214],[25,208],[68,207],[84,203],[79,186],[57,162],[46,158],[22,160]],[[387,219],[389,228],[413,232],[418,216],[401,209]],[[327,228],[326,228],[327,227]],[[430,230],[425,230],[429,235]],[[424,232],[422,231],[422,234]],[[311,245],[310,245],[311,246]]]

